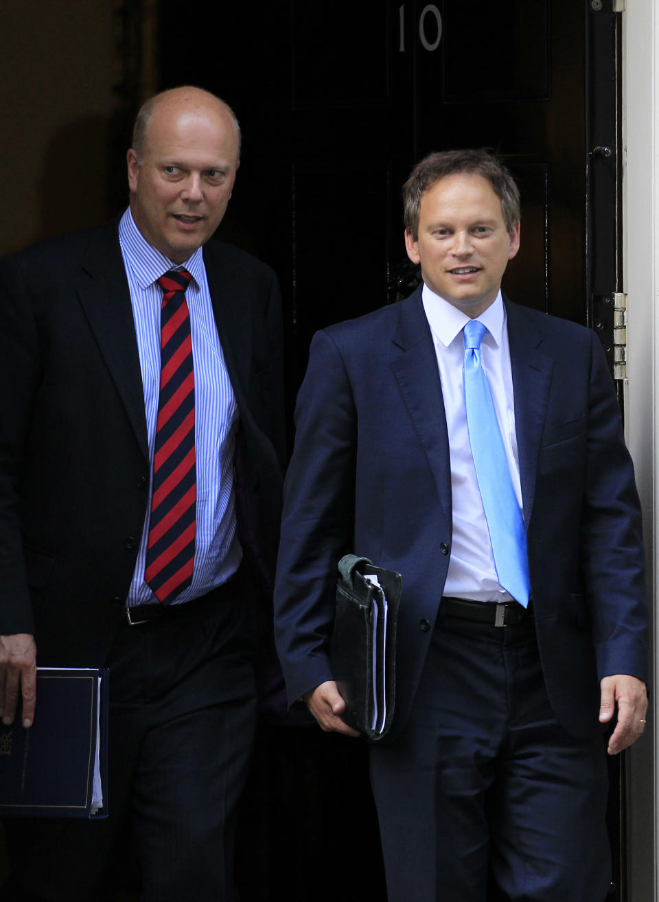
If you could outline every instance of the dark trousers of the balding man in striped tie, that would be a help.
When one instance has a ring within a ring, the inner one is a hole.
[[[109,815],[7,819],[0,898],[102,902],[136,859],[142,902],[233,902],[256,702],[240,584],[230,585],[119,628],[107,662]]]

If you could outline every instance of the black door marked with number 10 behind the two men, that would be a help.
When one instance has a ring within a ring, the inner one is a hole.
[[[503,155],[522,193],[508,294],[593,320],[591,292],[615,291],[619,277],[610,10],[610,0],[272,0],[215,10],[188,0],[182,15],[162,0],[161,87],[207,87],[243,126],[221,232],[279,273],[291,407],[314,331],[414,284],[400,187],[432,150]],[[171,51],[184,28],[182,51]],[[242,828],[245,896],[383,899],[367,784],[361,745],[265,725]],[[617,793],[611,811],[618,861]]]

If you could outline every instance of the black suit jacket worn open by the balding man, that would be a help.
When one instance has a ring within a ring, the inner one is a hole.
[[[0,634],[38,660],[99,666],[133,575],[150,480],[142,375],[118,221],[0,263]],[[206,275],[241,428],[236,507],[267,583],[284,461],[279,289],[219,242]]]

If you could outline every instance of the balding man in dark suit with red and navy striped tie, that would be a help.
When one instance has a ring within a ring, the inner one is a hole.
[[[152,98],[121,220],[2,264],[3,719],[39,718],[36,664],[107,666],[111,694],[109,817],[8,822],[6,897],[109,896],[129,815],[143,899],[234,897],[284,461],[277,281],[208,241],[239,145],[206,91]]]

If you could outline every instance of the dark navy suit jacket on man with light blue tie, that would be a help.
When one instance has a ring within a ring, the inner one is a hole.
[[[505,300],[537,640],[554,713],[598,728],[599,679],[645,679],[641,518],[604,354],[589,329]],[[448,437],[421,290],[319,332],[297,400],[275,591],[292,702],[332,679],[336,563],[402,574],[395,735],[451,553]],[[487,702],[484,702],[487,704]]]

